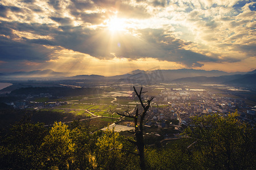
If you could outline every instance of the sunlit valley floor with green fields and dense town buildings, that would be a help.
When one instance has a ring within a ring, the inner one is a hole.
[[[6,103],[16,109],[32,109],[34,111],[52,111],[70,113],[84,118],[114,118],[114,122],[120,125],[133,126],[133,121],[126,120],[117,112],[129,111],[134,114],[135,107],[140,103],[131,88],[139,88],[139,84],[108,83],[102,84],[93,94],[77,96],[55,96],[54,93],[40,92],[36,94],[15,94],[22,100]],[[65,87],[68,86],[65,84]],[[72,86],[72,89],[75,87]],[[154,96],[151,108],[145,117],[145,126],[157,126],[168,128],[176,124],[175,129],[180,130],[182,125],[189,125],[190,118],[196,115],[219,113],[227,115],[237,112],[242,121],[251,125],[255,124],[256,106],[232,94],[232,92],[250,93],[245,88],[226,87],[221,84],[167,84],[144,85],[143,100]],[[72,121],[65,118],[63,122]],[[174,124],[175,123],[175,124]],[[107,124],[105,124],[107,125]],[[101,127],[102,128],[102,127]],[[129,128],[128,128],[129,129]],[[158,134],[158,133],[156,133]],[[168,134],[167,134],[168,135]]]

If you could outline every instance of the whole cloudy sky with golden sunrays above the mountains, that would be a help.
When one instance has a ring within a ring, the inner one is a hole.
[[[0,0],[0,73],[251,71],[255,10],[255,0]]]

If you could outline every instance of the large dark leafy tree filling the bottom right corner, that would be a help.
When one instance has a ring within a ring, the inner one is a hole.
[[[253,169],[255,130],[238,120],[237,113],[194,117],[184,134],[195,139],[189,154],[204,169]]]

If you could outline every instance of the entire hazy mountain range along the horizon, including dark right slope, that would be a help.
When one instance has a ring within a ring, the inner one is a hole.
[[[19,71],[14,73],[0,73],[0,80],[76,80],[86,79],[93,82],[118,82],[118,83],[226,83],[226,84],[256,84],[256,70],[250,72],[227,73],[219,70],[133,70],[127,74],[115,76],[102,75],[76,75],[67,76],[67,73],[53,70]]]

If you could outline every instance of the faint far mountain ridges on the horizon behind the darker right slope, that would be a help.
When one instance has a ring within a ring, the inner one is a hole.
[[[254,70],[255,71],[255,70]],[[247,73],[254,73],[253,71]],[[96,82],[121,82],[121,83],[132,83],[132,82],[144,82],[144,83],[161,83],[161,82],[177,82],[188,81],[181,78],[192,78],[201,76],[197,81],[221,81],[220,78],[210,78],[213,76],[224,76],[224,75],[237,75],[246,73],[226,73],[225,71],[218,70],[195,70],[195,69],[177,69],[177,70],[134,70],[127,74],[115,75],[115,76],[102,76],[102,75],[76,75],[68,76],[67,73],[55,72],[53,70],[35,70],[35,71],[19,71],[14,73],[0,73],[0,79],[54,79],[54,80],[75,80],[75,79],[86,79]],[[204,78],[205,77],[205,78]],[[181,79],[181,80],[179,80]],[[201,79],[201,80],[200,80]],[[232,80],[228,77],[223,77],[226,81]],[[189,80],[193,81],[194,78]]]

